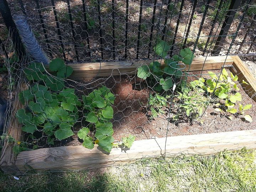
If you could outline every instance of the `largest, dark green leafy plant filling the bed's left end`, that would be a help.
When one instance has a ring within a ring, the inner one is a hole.
[[[19,100],[27,107],[19,109],[16,117],[23,124],[23,131],[32,134],[41,130],[48,136],[47,143],[54,144],[53,137],[62,140],[74,134],[71,127],[82,104],[75,90],[65,89],[64,80],[60,79],[70,76],[73,69],[59,58],[50,62],[49,69],[57,77],[48,75],[41,63],[31,63],[24,69],[32,86],[19,93]]]

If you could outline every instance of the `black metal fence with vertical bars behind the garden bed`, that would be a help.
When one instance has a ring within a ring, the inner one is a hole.
[[[254,55],[256,4],[253,0],[0,0],[0,43],[7,34],[21,46],[13,15],[23,14],[44,52],[67,62],[154,58],[165,40],[172,55],[190,47],[194,54]]]

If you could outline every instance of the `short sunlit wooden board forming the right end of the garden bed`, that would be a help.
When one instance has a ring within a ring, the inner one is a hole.
[[[256,79],[251,74],[249,69],[245,66],[239,56],[231,56],[234,60],[233,66],[236,69],[238,76],[238,80],[240,83],[244,80],[249,85],[242,84],[243,89],[245,92],[254,100],[256,101]]]

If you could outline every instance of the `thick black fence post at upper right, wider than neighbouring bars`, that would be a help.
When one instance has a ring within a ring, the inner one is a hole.
[[[236,10],[240,6],[240,4],[241,4],[241,0],[231,0],[230,6],[229,6],[229,11],[227,13],[227,16],[225,17],[225,20],[224,20],[222,28],[220,30],[219,36],[217,38],[217,42],[213,48],[213,52],[212,52],[213,55],[215,55],[215,56],[219,55],[219,53],[222,49],[223,43],[228,34],[231,23],[234,20]]]

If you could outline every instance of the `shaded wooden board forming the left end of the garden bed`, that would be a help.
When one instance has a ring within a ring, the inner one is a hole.
[[[20,85],[18,85],[18,89],[16,90],[16,93],[19,93],[20,91],[28,89],[25,81],[21,81]],[[11,135],[14,137],[15,140],[19,141],[21,138],[21,127],[22,125],[18,122],[18,119],[16,118],[16,111],[20,108],[23,108],[22,103],[20,103],[18,99],[18,94],[14,95],[13,105],[11,109],[11,116],[10,116],[10,124],[7,128],[7,135]],[[2,171],[6,173],[11,173],[13,171],[17,171],[17,167],[15,166],[15,160],[16,156],[12,152],[13,143],[8,143],[7,140],[5,140],[1,157],[0,157],[0,168]]]

